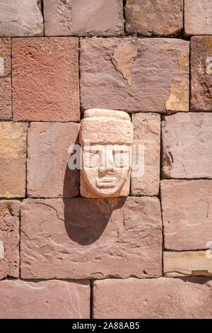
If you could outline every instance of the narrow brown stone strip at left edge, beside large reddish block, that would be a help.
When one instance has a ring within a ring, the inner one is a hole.
[[[11,38],[0,38],[0,119],[11,117]]]

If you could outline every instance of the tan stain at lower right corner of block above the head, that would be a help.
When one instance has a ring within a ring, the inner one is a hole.
[[[165,102],[167,111],[189,111],[189,80],[175,78],[170,85],[170,97]]]

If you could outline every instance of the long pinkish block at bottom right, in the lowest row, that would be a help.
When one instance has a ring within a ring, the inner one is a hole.
[[[208,278],[147,278],[95,281],[93,317],[114,319],[211,318]]]

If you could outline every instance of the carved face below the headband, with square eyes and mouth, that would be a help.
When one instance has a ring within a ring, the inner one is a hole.
[[[85,145],[83,176],[94,193],[112,196],[119,191],[130,171],[129,145]]]

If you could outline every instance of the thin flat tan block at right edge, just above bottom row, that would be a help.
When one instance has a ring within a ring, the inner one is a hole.
[[[165,276],[212,276],[211,252],[164,252]]]

